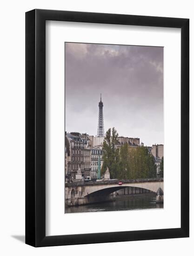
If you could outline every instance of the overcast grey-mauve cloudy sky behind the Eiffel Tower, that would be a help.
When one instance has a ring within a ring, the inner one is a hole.
[[[164,143],[163,47],[65,44],[66,131],[97,135],[100,93],[104,128]]]

